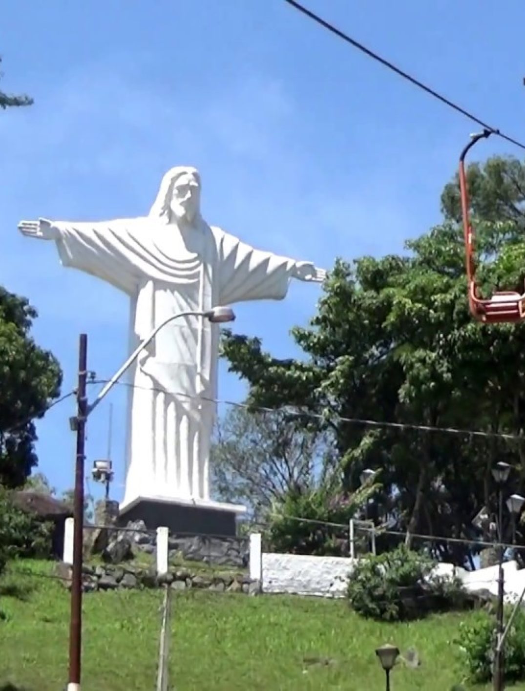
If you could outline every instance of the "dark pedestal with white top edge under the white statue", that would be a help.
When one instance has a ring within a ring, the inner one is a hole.
[[[235,536],[236,517],[240,507],[226,508],[225,504],[189,504],[140,498],[121,507],[118,524],[143,520],[146,528],[155,530],[165,526],[170,533],[192,535]],[[235,510],[237,509],[237,510]]]

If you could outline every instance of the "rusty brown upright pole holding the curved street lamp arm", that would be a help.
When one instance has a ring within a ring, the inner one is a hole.
[[[80,334],[76,417],[77,453],[75,458],[75,498],[73,504],[73,573],[71,574],[71,615],[69,625],[69,683],[67,691],[80,691],[87,353],[88,337],[86,334]]]

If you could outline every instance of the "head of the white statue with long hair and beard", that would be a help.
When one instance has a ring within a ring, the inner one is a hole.
[[[165,220],[188,223],[200,215],[200,175],[197,169],[178,166],[169,170],[160,183],[159,193],[149,212]]]

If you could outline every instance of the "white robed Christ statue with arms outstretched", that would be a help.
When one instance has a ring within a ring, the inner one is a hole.
[[[148,216],[76,223],[22,221],[55,240],[62,265],[101,278],[130,299],[130,352],[169,316],[241,301],[282,300],[291,278],[321,282],[312,263],[255,249],[200,216],[200,176],[168,171]],[[218,324],[175,319],[131,369],[123,506],[139,498],[209,501],[216,415]]]

